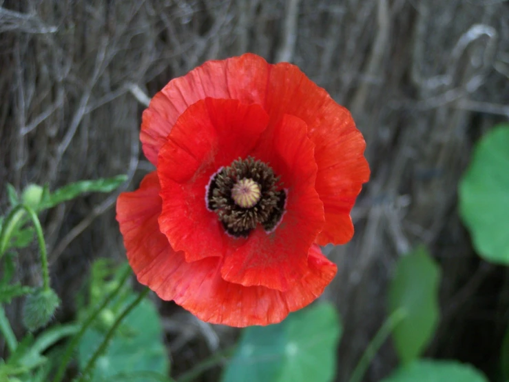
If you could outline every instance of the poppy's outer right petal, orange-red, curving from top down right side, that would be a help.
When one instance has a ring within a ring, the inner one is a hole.
[[[317,243],[346,243],[353,235],[350,210],[369,168],[363,156],[366,143],[348,110],[289,63],[273,66],[265,109],[271,121],[282,114],[308,125],[318,165],[316,190],[324,203],[325,225]]]

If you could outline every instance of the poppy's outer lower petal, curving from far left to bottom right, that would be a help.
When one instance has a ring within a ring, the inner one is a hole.
[[[152,172],[138,190],[118,197],[116,219],[127,259],[140,283],[204,321],[238,327],[278,323],[320,296],[335,276],[335,264],[313,245],[309,271],[287,292],[227,283],[220,277],[220,259],[187,263],[183,252],[172,250],[158,229],[159,191],[156,172]]]

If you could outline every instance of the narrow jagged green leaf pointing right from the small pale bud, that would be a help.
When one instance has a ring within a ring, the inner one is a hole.
[[[50,194],[43,192],[43,201],[39,210],[52,208],[64,201],[79,197],[86,192],[112,192],[126,180],[126,175],[117,175],[113,178],[96,179],[94,181],[77,181],[76,183],[65,185]]]

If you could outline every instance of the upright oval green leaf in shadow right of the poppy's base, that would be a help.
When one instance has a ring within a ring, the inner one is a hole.
[[[389,285],[388,310],[402,309],[404,319],[393,331],[399,359],[407,363],[425,350],[439,319],[440,268],[424,247],[399,259]]]

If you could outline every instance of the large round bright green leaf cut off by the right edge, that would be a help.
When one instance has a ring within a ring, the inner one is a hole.
[[[459,183],[459,212],[481,257],[509,265],[509,125],[484,136]]]

